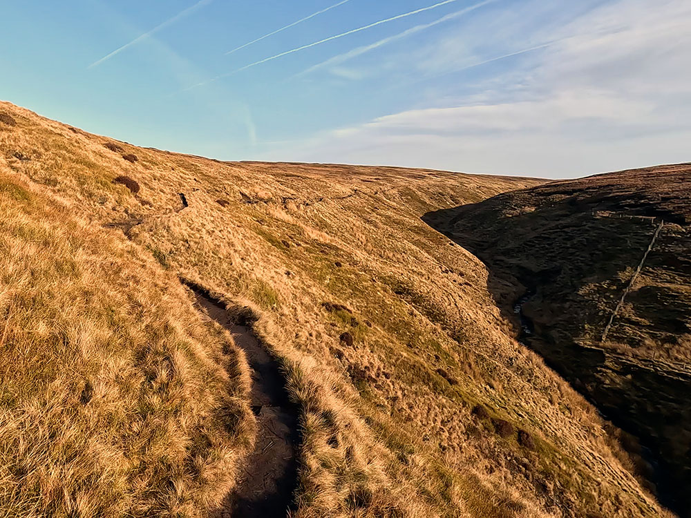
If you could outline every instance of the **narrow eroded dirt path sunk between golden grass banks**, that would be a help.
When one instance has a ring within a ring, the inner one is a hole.
[[[236,345],[247,354],[252,369],[252,410],[258,424],[256,447],[247,457],[236,490],[212,516],[286,516],[297,480],[299,430],[297,410],[285,390],[285,377],[252,329],[234,323],[223,303],[196,287],[191,289],[200,309],[228,329]]]

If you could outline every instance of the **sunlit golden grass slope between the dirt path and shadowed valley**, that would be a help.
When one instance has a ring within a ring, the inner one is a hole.
[[[513,340],[484,265],[420,220],[536,181],[115,152],[103,137],[0,109],[18,123],[0,126],[3,171],[256,307],[302,408],[296,515],[663,514],[593,408]],[[140,192],[113,184],[118,175]],[[489,416],[473,416],[477,405]]]

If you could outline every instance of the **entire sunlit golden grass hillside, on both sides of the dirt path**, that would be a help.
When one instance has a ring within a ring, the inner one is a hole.
[[[288,488],[300,518],[670,516],[516,340],[494,269],[421,219],[541,184],[218,162],[0,103],[0,514],[223,516]],[[253,482],[277,454],[293,478]]]

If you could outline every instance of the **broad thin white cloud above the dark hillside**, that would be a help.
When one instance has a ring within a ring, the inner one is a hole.
[[[690,2],[618,0],[516,39],[528,23],[520,17],[534,5],[505,11],[497,23],[517,17],[504,35],[514,52],[552,43],[500,75],[476,79],[472,95],[430,97],[422,108],[292,143],[286,158],[551,177],[691,160]],[[483,30],[475,26],[470,36]],[[458,32],[456,55],[444,50],[453,37],[437,54],[433,45],[419,50],[428,58],[420,61],[424,70],[448,73],[493,59]],[[491,32],[485,41],[490,36],[502,37]],[[414,61],[408,56],[401,66]]]

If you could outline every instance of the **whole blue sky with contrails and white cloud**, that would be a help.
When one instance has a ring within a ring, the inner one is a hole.
[[[2,11],[0,99],[140,146],[545,178],[691,161],[689,0]]]

